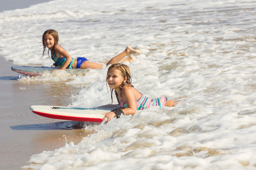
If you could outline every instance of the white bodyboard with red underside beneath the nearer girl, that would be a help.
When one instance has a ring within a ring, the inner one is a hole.
[[[35,114],[52,119],[102,122],[104,118],[102,113],[109,112],[111,109],[34,105],[30,106],[30,110]]]

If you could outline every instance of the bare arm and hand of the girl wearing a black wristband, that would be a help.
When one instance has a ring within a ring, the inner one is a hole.
[[[122,98],[126,101],[126,104],[127,104],[127,108],[122,109],[125,115],[130,115],[130,114],[133,115],[137,111],[134,90],[136,90],[134,87],[127,86],[122,91]],[[106,112],[103,114],[105,114],[105,117],[107,118],[106,122],[116,117],[116,114],[113,111]]]

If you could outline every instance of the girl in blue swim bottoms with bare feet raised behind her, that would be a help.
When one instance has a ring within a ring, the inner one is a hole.
[[[83,58],[83,57],[79,57],[77,59],[72,58],[68,54],[68,52],[65,51],[64,48],[62,48],[58,44],[59,35],[58,35],[57,31],[55,31],[54,29],[46,30],[43,34],[42,41],[43,41],[43,46],[44,46],[44,51],[43,51],[42,56],[44,56],[44,54],[45,54],[46,47],[49,48],[49,50],[51,51],[52,60],[60,67],[60,69],[56,69],[56,70],[64,70],[66,68],[67,69],[71,69],[71,68],[81,68],[81,69],[102,68],[102,64],[89,62],[86,58]],[[48,55],[49,55],[49,50],[48,50]],[[134,50],[133,48],[127,46],[126,49],[122,53],[120,53],[119,55],[110,59],[106,65],[108,66],[109,64],[117,63],[120,60],[121,60],[121,62],[124,62],[124,61],[131,62],[134,59],[134,57],[132,55],[127,59],[123,59],[123,58],[127,55],[135,54],[135,53],[140,54],[140,51]],[[56,70],[54,70],[54,71],[56,71]]]

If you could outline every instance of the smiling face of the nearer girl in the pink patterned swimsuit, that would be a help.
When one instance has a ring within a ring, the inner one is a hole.
[[[109,88],[112,88],[116,91],[119,91],[119,86],[122,84],[123,80],[126,81],[126,77],[121,75],[121,71],[118,69],[109,70],[107,74],[107,83],[109,85]]]

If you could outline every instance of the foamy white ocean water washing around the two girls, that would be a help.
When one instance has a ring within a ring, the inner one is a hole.
[[[55,0],[1,12],[0,55],[14,64],[52,65],[40,59],[46,29],[59,32],[74,58],[99,63],[129,45],[142,52],[125,63],[133,86],[179,101],[85,123],[95,133],[31,155],[22,169],[256,169],[255,7],[253,0]],[[97,107],[111,103],[107,69],[18,81],[82,86],[69,106]]]

